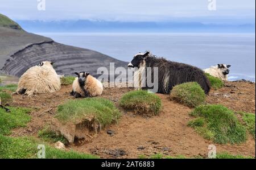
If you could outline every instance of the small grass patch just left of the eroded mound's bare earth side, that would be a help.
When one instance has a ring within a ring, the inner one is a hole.
[[[57,135],[55,131],[51,130],[50,127],[44,127],[42,130],[38,132],[39,138],[43,139],[46,142],[62,142],[64,144],[68,144],[68,140],[64,138],[62,135]]]

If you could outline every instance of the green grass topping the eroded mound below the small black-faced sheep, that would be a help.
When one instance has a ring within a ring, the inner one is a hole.
[[[60,105],[56,118],[61,122],[79,123],[88,118],[94,118],[102,127],[117,122],[121,113],[114,103],[104,98],[85,98],[70,100]]]

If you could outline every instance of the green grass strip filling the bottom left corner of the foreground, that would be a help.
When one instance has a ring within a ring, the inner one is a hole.
[[[32,138],[13,138],[0,134],[0,158],[2,159],[21,159],[21,158],[37,158],[38,145],[44,144]],[[46,147],[46,158],[48,159],[95,159],[94,155],[80,154],[75,151],[63,151],[50,147]]]

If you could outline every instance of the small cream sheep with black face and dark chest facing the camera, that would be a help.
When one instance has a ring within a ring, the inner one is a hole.
[[[73,81],[73,90],[71,96],[78,97],[94,97],[100,96],[103,92],[103,85],[97,78],[90,76],[90,73],[75,73],[77,77]]]

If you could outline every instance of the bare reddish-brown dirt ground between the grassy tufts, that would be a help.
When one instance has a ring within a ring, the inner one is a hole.
[[[45,125],[51,123],[57,106],[74,99],[69,96],[71,86],[63,86],[59,92],[39,94],[32,98],[15,95],[14,106],[32,107],[31,122],[27,127],[16,128],[11,136],[37,136]],[[131,88],[105,88],[102,97],[110,99],[118,106],[121,96]],[[90,142],[69,144],[67,150],[96,154],[100,157],[137,158],[138,155],[184,155],[187,157],[208,155],[209,144],[214,144],[198,135],[187,122],[192,119],[192,109],[168,99],[168,95],[157,94],[163,103],[159,116],[146,118],[121,109],[123,115],[117,125],[102,130]],[[207,103],[221,103],[234,111],[255,113],[255,84],[249,82],[225,82],[225,87],[211,90]],[[110,136],[106,130],[113,130]],[[241,145],[215,144],[217,152],[250,155],[255,157],[255,140],[251,135]],[[139,150],[138,147],[143,148]]]

